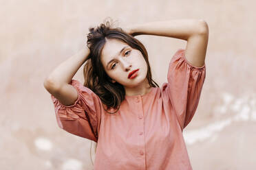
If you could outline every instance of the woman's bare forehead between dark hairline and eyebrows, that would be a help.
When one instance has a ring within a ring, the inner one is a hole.
[[[103,47],[103,50],[101,51],[100,59],[103,62],[103,65],[107,66],[107,62],[115,58],[120,50],[125,46],[129,47],[127,43],[122,42],[121,40],[108,39]]]

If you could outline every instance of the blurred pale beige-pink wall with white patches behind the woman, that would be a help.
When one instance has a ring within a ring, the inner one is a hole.
[[[256,169],[255,1],[0,1],[0,168],[93,169],[92,142],[58,127],[43,80],[86,45],[106,17],[118,27],[172,19],[209,25],[206,80],[184,130],[193,169]],[[153,78],[186,41],[136,36]],[[83,82],[83,66],[74,79]],[[164,148],[163,148],[164,149]]]

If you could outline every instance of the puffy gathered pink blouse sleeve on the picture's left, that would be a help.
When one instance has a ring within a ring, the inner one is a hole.
[[[78,92],[73,105],[65,106],[51,95],[58,126],[71,134],[97,142],[103,108],[100,98],[78,80],[71,80],[70,84]]]

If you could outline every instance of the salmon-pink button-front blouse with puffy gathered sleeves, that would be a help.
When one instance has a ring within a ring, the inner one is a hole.
[[[98,143],[94,169],[192,169],[182,136],[198,107],[206,67],[193,66],[184,49],[169,62],[168,82],[145,95],[125,96],[120,110],[108,114],[98,95],[78,80],[78,99],[64,106],[53,95],[63,130]]]

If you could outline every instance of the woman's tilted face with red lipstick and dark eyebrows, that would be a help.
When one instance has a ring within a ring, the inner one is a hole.
[[[107,39],[100,60],[112,82],[133,88],[145,83],[147,79],[147,62],[142,53],[121,40]],[[139,70],[134,74],[137,75],[132,79],[128,78],[129,73],[137,69]]]

